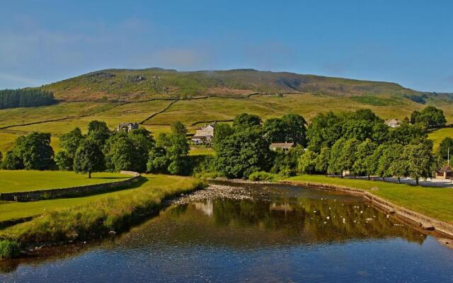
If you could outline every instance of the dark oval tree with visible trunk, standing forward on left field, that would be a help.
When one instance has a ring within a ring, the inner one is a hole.
[[[104,156],[96,141],[92,139],[84,139],[74,156],[74,170],[76,173],[88,173],[88,178],[91,178],[91,173],[94,171],[103,170]]]

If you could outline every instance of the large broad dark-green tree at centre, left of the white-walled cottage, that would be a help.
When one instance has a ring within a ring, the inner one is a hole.
[[[270,168],[269,141],[259,127],[235,132],[216,147],[217,170],[227,178],[247,178]]]

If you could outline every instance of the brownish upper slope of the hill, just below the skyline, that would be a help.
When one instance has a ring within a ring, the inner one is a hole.
[[[64,101],[142,101],[198,96],[243,97],[253,93],[313,93],[333,96],[405,96],[420,102],[432,93],[397,83],[359,81],[288,72],[236,69],[176,71],[106,69],[43,87]]]

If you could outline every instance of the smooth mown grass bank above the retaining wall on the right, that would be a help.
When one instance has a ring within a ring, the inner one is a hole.
[[[453,189],[420,187],[382,181],[327,178],[323,175],[299,175],[285,180],[320,184],[344,185],[367,190],[390,202],[435,219],[453,223]],[[371,190],[378,187],[379,190]]]

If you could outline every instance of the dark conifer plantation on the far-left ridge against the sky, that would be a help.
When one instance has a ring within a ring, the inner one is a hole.
[[[0,109],[35,107],[57,103],[54,94],[41,89],[6,89],[0,91]]]

